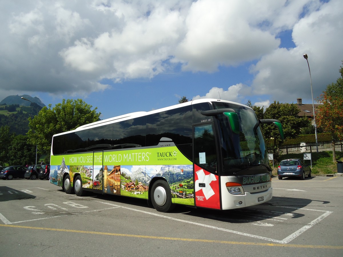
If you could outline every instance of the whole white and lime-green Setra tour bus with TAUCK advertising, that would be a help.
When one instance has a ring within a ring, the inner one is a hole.
[[[143,198],[158,211],[176,204],[234,209],[272,198],[261,123],[239,103],[200,99],[83,125],[52,137],[50,182]]]

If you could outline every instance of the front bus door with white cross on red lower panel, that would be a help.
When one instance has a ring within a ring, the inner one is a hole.
[[[214,123],[193,126],[194,197],[196,206],[220,209],[218,152]]]

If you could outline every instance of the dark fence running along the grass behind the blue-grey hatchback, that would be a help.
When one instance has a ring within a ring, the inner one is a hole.
[[[283,154],[288,154],[290,152],[312,152],[317,151],[316,142],[306,143],[306,144],[296,144],[296,145],[284,145],[280,147]],[[318,142],[318,151],[330,151],[332,150],[331,141],[321,141]],[[343,151],[343,140],[335,141],[335,150]]]

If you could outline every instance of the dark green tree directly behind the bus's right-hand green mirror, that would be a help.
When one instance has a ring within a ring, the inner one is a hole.
[[[300,129],[307,126],[309,120],[306,117],[298,117],[299,108],[295,103],[280,103],[274,101],[264,112],[264,119],[276,119],[282,124],[285,138],[294,138],[300,134]],[[263,134],[266,138],[274,139],[274,146],[280,148],[282,139],[274,124],[264,124]],[[278,152],[278,151],[277,151]],[[274,153],[277,154],[276,148]]]

